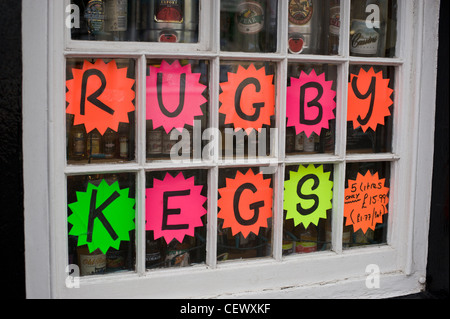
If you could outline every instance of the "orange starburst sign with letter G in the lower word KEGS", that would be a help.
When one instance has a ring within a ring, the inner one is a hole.
[[[268,227],[273,202],[270,179],[251,169],[245,174],[238,171],[234,179],[226,178],[226,187],[219,189],[219,194],[217,217],[223,219],[223,228],[231,228],[233,236],[241,232],[247,238],[250,232],[258,235],[261,227]]]

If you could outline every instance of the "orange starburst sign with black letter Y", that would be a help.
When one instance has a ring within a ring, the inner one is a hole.
[[[385,124],[390,116],[389,107],[393,104],[389,79],[383,78],[383,72],[375,73],[361,69],[359,74],[351,74],[348,84],[347,120],[353,122],[353,128],[366,132],[369,128],[376,131],[377,125]]]

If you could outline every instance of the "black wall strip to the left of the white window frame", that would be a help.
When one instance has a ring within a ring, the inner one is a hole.
[[[25,297],[21,10],[0,0],[0,281],[10,298]]]

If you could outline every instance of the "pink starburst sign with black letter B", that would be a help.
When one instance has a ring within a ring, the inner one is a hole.
[[[297,79],[291,77],[287,88],[286,117],[287,126],[295,127],[296,134],[305,132],[309,137],[314,132],[320,135],[322,128],[329,129],[329,121],[335,118],[336,92],[333,81],[325,79],[325,73],[317,75],[301,72]]]

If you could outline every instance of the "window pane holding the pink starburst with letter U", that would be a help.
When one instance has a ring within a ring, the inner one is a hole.
[[[200,159],[208,143],[202,134],[208,128],[209,62],[147,64],[147,159]]]

